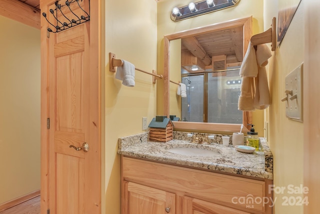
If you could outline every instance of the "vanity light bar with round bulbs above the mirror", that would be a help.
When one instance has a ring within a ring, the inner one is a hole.
[[[171,12],[171,20],[179,21],[208,12],[224,9],[236,5],[240,0],[201,0],[191,2],[188,5],[174,7]]]

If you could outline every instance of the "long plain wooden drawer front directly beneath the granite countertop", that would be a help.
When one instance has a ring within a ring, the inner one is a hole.
[[[265,196],[261,180],[219,174],[146,160],[122,157],[122,179],[178,191],[214,203],[264,212],[266,204],[254,198]],[[252,199],[253,200],[248,200]]]

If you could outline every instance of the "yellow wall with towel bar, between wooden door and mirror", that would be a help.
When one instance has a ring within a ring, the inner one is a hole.
[[[147,124],[155,116],[156,85],[152,84],[151,75],[139,71],[135,71],[134,87],[122,85],[109,72],[109,52],[142,70],[156,70],[156,1],[105,2],[105,150],[102,152],[105,212],[102,213],[116,214],[120,213],[117,139],[143,132],[142,116],[147,117]]]

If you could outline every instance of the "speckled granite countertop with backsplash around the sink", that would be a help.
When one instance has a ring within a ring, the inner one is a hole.
[[[242,174],[251,177],[273,179],[272,153],[264,138],[260,137],[262,151],[254,151],[251,154],[237,151],[231,144],[221,144],[220,134],[214,134],[214,139],[209,139],[210,144],[191,143],[188,132],[173,131],[173,139],[167,142],[148,141],[148,132],[121,137],[118,139],[118,153],[155,160],[166,163],[179,164],[181,166],[192,166],[199,169],[222,171]],[[199,135],[210,135],[197,133]],[[168,148],[195,147],[218,151],[220,154],[212,156],[190,156],[171,153]]]

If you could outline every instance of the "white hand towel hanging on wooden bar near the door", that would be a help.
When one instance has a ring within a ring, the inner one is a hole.
[[[134,86],[135,67],[132,63],[122,60],[123,66],[116,68],[115,78],[122,80],[122,84],[125,86]]]

